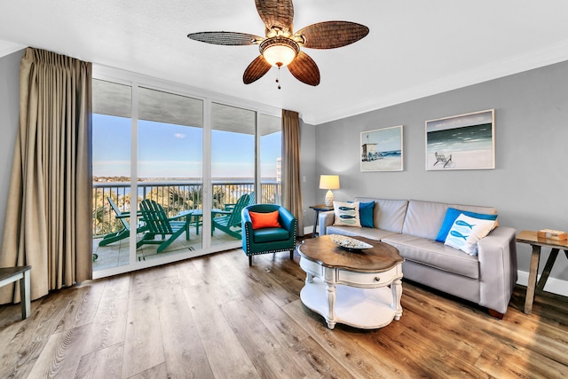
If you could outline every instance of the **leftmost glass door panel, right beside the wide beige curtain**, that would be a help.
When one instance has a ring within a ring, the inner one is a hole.
[[[99,271],[130,263],[132,87],[101,80],[92,86],[92,266]]]

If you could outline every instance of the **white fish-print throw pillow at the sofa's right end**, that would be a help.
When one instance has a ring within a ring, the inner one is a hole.
[[[477,256],[477,241],[492,231],[494,220],[474,218],[461,214],[447,234],[446,245]]]

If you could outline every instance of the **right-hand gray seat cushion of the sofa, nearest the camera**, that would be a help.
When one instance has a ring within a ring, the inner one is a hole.
[[[381,241],[397,248],[400,255],[408,260],[471,279],[479,278],[477,256],[469,256],[441,242],[408,234],[391,235]]]

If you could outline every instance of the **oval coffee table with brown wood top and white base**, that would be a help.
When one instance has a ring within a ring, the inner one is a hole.
[[[402,315],[402,263],[398,249],[366,238],[371,249],[351,252],[328,235],[304,240],[298,246],[300,267],[306,272],[302,303],[327,321],[355,328],[383,328]],[[390,288],[389,288],[390,286]]]

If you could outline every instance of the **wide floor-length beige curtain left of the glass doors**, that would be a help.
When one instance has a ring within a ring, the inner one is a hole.
[[[31,297],[91,279],[91,63],[28,48],[0,266],[31,265]],[[0,304],[20,301],[0,288]]]

